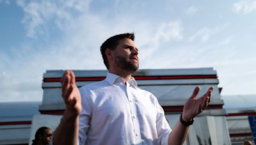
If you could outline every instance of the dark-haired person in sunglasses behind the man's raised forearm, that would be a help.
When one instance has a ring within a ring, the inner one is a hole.
[[[35,139],[32,141],[32,145],[45,145],[51,144],[52,130],[48,127],[40,127],[36,130]]]

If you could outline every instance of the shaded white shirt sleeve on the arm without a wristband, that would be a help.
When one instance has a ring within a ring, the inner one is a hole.
[[[90,93],[85,86],[79,89],[82,102],[82,112],[79,116],[79,144],[85,144],[87,139],[87,132],[90,128],[90,118],[92,116],[92,100]]]

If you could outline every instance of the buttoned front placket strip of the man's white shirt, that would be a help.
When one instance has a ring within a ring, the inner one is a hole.
[[[129,101],[129,106],[131,110],[131,120],[133,123],[135,142],[136,144],[141,144],[140,124],[138,120],[138,114],[137,114],[134,95],[132,95],[131,93],[131,87],[132,86],[129,83],[127,83],[126,85],[127,99]]]

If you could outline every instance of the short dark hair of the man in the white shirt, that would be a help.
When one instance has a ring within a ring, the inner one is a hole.
[[[106,56],[106,49],[109,48],[110,50],[115,50],[116,46],[119,44],[119,41],[121,39],[129,38],[132,41],[134,41],[134,33],[124,33],[124,34],[118,34],[115,36],[112,36],[111,38],[108,38],[102,45],[100,46],[100,52],[104,61],[105,66],[107,69],[109,69],[108,65],[108,59]]]

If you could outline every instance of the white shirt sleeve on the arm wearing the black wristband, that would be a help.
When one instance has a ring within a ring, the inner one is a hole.
[[[157,136],[158,136],[157,144],[167,145],[168,138],[169,138],[170,132],[172,132],[172,129],[170,128],[170,125],[164,116],[163,107],[160,106],[157,99],[156,99],[156,102],[157,102],[156,103],[156,109],[157,109],[156,126],[157,126]]]

